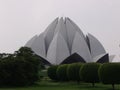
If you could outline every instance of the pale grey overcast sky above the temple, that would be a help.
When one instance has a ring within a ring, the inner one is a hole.
[[[56,17],[69,17],[120,54],[120,0],[0,0],[0,53],[13,53]]]

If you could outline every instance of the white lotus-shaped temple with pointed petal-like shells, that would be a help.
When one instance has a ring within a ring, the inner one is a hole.
[[[44,63],[51,65],[110,61],[102,44],[90,33],[85,35],[70,18],[56,18],[25,46],[43,58]]]

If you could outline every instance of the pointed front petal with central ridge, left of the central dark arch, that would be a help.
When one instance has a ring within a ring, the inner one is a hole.
[[[70,56],[70,53],[66,41],[60,33],[56,33],[48,49],[47,60],[56,65],[68,56]]]

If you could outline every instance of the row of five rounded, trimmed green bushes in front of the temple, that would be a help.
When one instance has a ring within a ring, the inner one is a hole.
[[[53,67],[55,69],[52,69]],[[111,84],[113,89],[114,84],[120,84],[120,63],[73,63],[51,66],[48,69],[50,78],[52,76],[52,74],[50,76],[51,69],[57,81],[83,81],[92,83],[93,86],[96,82],[102,82],[103,84]]]

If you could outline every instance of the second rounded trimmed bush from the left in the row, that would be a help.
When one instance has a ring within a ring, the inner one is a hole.
[[[67,67],[68,67],[67,64],[58,66],[56,73],[57,73],[57,77],[58,77],[59,81],[67,81],[68,80]]]

